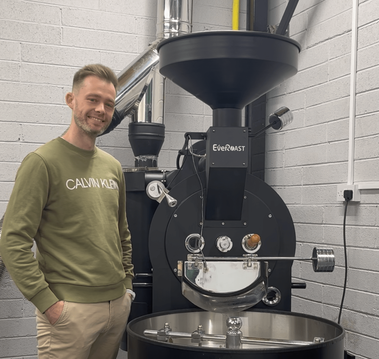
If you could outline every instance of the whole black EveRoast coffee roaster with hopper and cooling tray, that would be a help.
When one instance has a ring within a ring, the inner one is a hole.
[[[160,73],[209,105],[213,125],[185,134],[173,171],[154,167],[163,125],[129,128],[136,167],[125,171],[125,181],[136,300],[123,349],[130,359],[342,359],[340,325],[291,312],[291,288],[305,287],[291,282],[293,261],[332,272],[333,250],[294,257],[290,212],[247,173],[249,137],[256,134],[241,126],[241,111],[296,74],[300,45],[276,34],[209,31],[171,37],[158,51]],[[280,130],[291,120],[280,108],[269,127]]]

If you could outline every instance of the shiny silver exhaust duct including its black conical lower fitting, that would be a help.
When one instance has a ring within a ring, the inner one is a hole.
[[[158,0],[157,39],[117,76],[116,109],[129,117],[129,140],[135,167],[157,167],[164,141],[164,81],[159,73],[157,45],[192,30],[192,0]],[[121,120],[120,119],[120,120]]]

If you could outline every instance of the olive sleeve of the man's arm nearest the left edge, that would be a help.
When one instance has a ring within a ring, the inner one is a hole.
[[[42,313],[58,301],[31,251],[48,196],[46,165],[39,155],[30,153],[17,171],[5,212],[0,253],[16,286]]]

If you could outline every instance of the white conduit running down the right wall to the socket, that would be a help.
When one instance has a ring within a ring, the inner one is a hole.
[[[350,72],[350,114],[349,114],[349,162],[348,185],[356,184],[358,189],[379,189],[379,182],[354,183],[354,145],[356,125],[356,85],[357,85],[357,38],[358,38],[358,3],[353,0],[351,27],[351,72]]]

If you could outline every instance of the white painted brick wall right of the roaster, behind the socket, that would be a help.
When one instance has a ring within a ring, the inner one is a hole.
[[[269,23],[280,21],[287,1],[270,1]],[[379,5],[359,2],[354,181],[379,179]],[[333,273],[294,263],[307,289],[293,290],[293,311],[337,322],[344,279],[343,204],[337,184],[347,182],[352,1],[300,1],[290,36],[302,45],[299,72],[268,96],[268,113],[288,106],[293,123],[266,136],[266,181],[290,209],[299,256],[331,246]],[[341,316],[346,349],[359,359],[379,350],[379,190],[362,190],[349,204],[346,240],[348,289]]]

